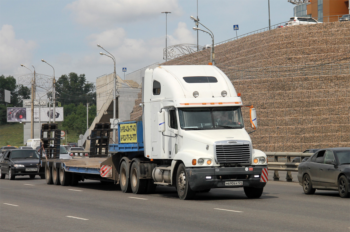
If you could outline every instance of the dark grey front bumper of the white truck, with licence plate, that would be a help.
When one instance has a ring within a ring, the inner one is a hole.
[[[232,187],[263,188],[266,185],[264,180],[261,181],[263,168],[267,170],[267,166],[186,168],[186,173],[193,191]]]

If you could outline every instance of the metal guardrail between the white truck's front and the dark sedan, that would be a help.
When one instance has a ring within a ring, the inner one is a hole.
[[[303,153],[303,152],[265,152],[267,157],[273,157],[273,162],[268,162],[268,170],[274,171],[273,180],[280,180],[278,171],[287,171],[286,180],[287,182],[292,182],[292,173],[297,172],[299,163],[292,163],[290,161],[291,157],[300,157],[300,161],[303,158],[311,157],[314,153]],[[287,159],[287,162],[279,162],[278,158]]]

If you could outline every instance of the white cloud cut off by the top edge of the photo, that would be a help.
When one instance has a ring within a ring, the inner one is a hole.
[[[85,26],[132,23],[159,17],[163,11],[181,15],[177,0],[78,0],[68,4],[71,16]]]

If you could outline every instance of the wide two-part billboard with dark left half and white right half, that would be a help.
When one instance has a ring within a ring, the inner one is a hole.
[[[34,108],[34,122],[39,122],[39,109],[40,109],[40,122],[48,122],[51,117],[51,122],[54,119],[54,109],[49,107]],[[50,112],[51,111],[51,112]],[[55,109],[55,121],[63,121],[63,107],[56,107]],[[7,122],[30,122],[31,121],[31,108],[25,107],[7,107]]]

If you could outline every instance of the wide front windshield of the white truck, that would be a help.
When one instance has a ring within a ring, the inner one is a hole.
[[[244,127],[239,106],[179,108],[179,118],[180,127],[184,130],[241,129]]]

